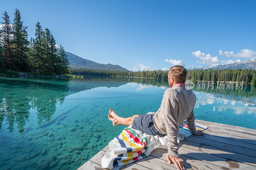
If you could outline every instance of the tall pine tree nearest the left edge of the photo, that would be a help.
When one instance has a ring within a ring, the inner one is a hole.
[[[10,17],[6,11],[3,13],[4,22],[1,29],[1,44],[3,45],[3,57],[4,57],[4,65],[6,69],[13,70],[12,61],[14,60],[13,57],[13,47],[12,47],[12,26],[10,23]]]

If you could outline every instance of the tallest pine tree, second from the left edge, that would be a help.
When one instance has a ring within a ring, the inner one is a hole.
[[[23,26],[21,21],[20,11],[15,10],[14,19],[12,23],[13,28],[13,53],[15,60],[13,61],[14,67],[19,71],[28,71],[28,33],[27,26]]]

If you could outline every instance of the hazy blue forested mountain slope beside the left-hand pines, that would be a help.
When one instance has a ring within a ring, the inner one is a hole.
[[[69,67],[71,68],[88,68],[88,69],[101,69],[101,70],[118,70],[118,71],[128,71],[126,68],[123,68],[119,65],[113,65],[113,64],[100,64],[96,63],[91,60],[83,59],[75,54],[69,53],[65,51],[66,54],[68,54],[68,61],[70,63]]]

